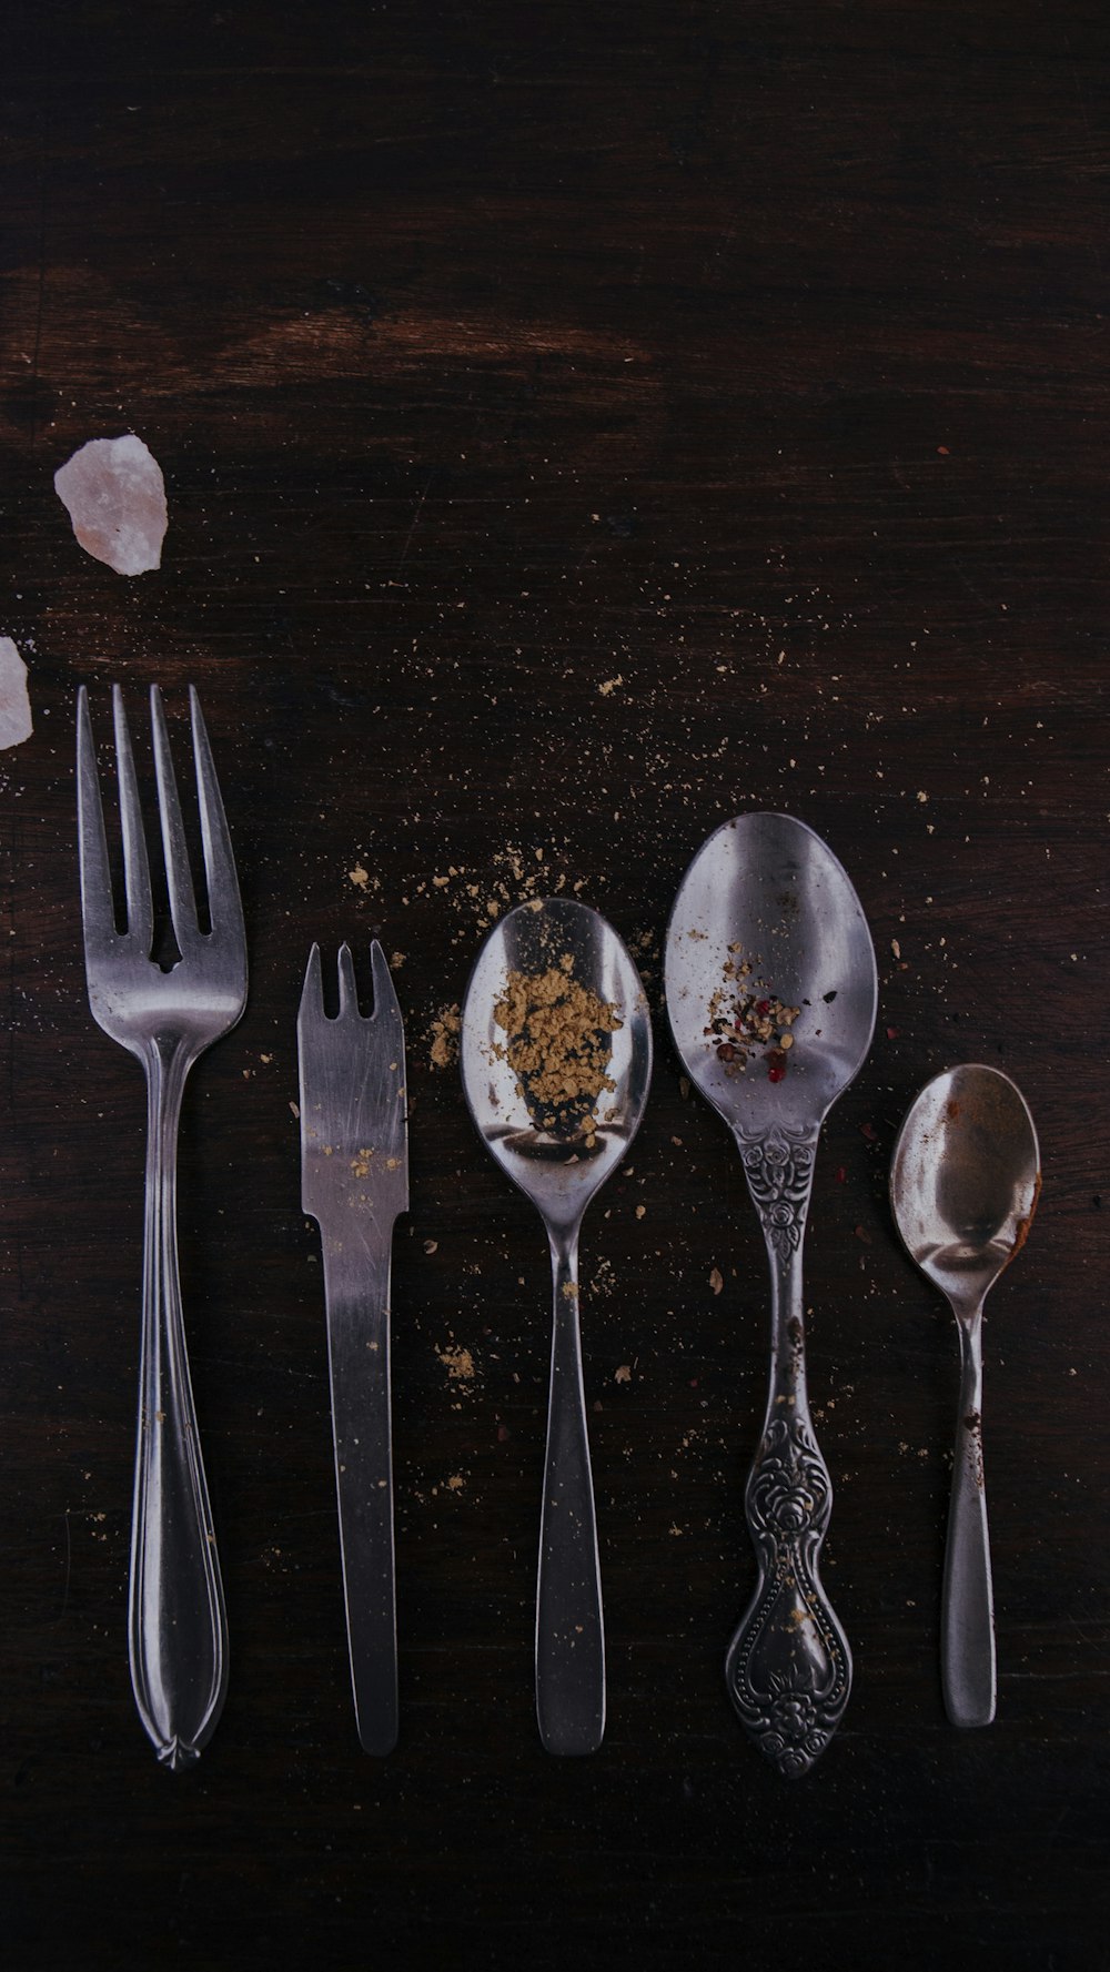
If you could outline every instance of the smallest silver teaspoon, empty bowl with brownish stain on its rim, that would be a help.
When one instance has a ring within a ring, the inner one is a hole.
[[[1037,1132],[1000,1069],[925,1085],[899,1130],[891,1205],[905,1248],[960,1325],[960,1412],[944,1550],[940,1676],[952,1726],[990,1726],[994,1591],[982,1463],[982,1303],[1023,1246],[1041,1189]]]

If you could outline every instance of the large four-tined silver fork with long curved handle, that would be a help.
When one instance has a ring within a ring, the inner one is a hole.
[[[227,816],[189,686],[211,931],[201,931],[162,694],[150,688],[170,919],[179,958],[152,958],[154,901],[130,734],[112,686],[126,929],[116,929],[89,696],[77,698],[77,820],[89,1004],[146,1073],[146,1223],[140,1406],[134,1465],[128,1641],[142,1724],[158,1759],[197,1759],[227,1692],[227,1615],[193,1412],[177,1278],[177,1118],[185,1077],[246,1004],[246,937]]]

